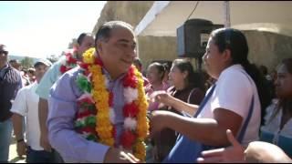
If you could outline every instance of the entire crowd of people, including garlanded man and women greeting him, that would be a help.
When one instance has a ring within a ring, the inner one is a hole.
[[[292,58],[268,75],[248,60],[240,30],[220,28],[205,72],[175,59],[144,75],[128,23],[107,22],[77,42],[27,73],[0,45],[1,162],[12,131],[29,163],[292,161]]]

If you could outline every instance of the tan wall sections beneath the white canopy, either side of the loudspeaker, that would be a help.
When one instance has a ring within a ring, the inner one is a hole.
[[[248,58],[272,71],[283,58],[292,57],[292,37],[260,31],[243,31],[249,47]],[[139,37],[140,57],[145,67],[152,60],[177,58],[176,37]]]

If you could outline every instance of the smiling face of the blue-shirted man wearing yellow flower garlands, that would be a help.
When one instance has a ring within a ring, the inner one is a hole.
[[[136,55],[136,39],[127,28],[117,27],[110,32],[108,40],[98,41],[97,49],[110,76],[126,73]]]

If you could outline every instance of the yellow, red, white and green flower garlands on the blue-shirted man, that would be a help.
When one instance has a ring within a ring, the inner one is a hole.
[[[94,48],[83,54],[83,62],[79,66],[83,71],[78,74],[76,81],[83,95],[78,98],[75,128],[84,138],[117,147],[112,108],[114,95],[107,88],[108,79],[102,74],[103,64],[95,56]],[[120,145],[144,161],[146,157],[144,140],[149,133],[149,120],[146,118],[148,102],[143,89],[143,78],[138,69],[131,66],[122,80],[126,104],[123,107],[125,119]]]

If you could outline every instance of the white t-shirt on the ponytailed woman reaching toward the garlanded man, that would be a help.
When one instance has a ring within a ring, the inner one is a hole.
[[[207,93],[209,91],[210,89]],[[212,97],[210,97],[205,104],[198,118],[214,118],[214,109],[224,108],[244,118],[242,122],[243,126],[248,115],[253,95],[255,96],[254,111],[242,141],[243,145],[247,145],[249,142],[258,139],[261,106],[255,83],[241,65],[234,65],[224,69],[216,82]],[[238,135],[239,133],[240,131],[237,132]]]

